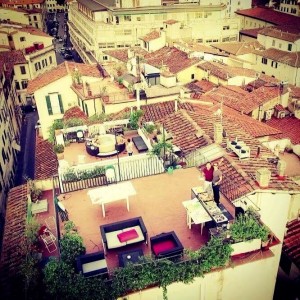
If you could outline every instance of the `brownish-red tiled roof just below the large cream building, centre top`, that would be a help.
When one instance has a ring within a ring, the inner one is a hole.
[[[199,63],[199,59],[189,58],[188,55],[174,47],[163,47],[144,57],[146,63],[157,68],[163,65],[169,67],[169,71],[176,74],[192,65]]]

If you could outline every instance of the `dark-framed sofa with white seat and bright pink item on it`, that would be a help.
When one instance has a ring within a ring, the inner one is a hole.
[[[141,217],[100,226],[104,251],[145,242],[147,229]]]

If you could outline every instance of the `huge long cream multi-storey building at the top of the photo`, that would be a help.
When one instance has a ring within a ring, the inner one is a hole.
[[[140,38],[153,30],[165,30],[167,41],[173,42],[173,24],[177,40],[236,41],[240,20],[228,18],[227,8],[220,1],[79,0],[69,4],[70,39],[86,63],[104,61],[105,50],[140,46]]]

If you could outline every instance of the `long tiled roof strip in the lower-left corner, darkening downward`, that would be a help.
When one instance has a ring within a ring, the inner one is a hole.
[[[27,215],[27,184],[12,188],[8,193],[5,227],[0,262],[0,280],[5,281],[20,270],[23,259]]]

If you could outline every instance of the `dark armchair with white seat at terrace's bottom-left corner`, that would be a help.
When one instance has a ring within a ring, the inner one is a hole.
[[[108,277],[108,269],[103,251],[80,255],[76,259],[77,271],[84,277],[103,275]]]

